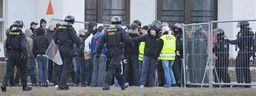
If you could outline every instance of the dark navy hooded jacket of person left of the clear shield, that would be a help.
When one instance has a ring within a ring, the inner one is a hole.
[[[36,57],[38,54],[45,54],[46,49],[50,45],[50,39],[45,36],[44,28],[37,28],[38,36],[35,38],[33,44],[33,54]]]

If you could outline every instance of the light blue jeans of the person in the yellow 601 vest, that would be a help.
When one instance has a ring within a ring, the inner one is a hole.
[[[174,74],[173,74],[173,69],[171,67],[173,67],[173,62],[174,60],[162,60],[162,64],[164,67],[164,72],[165,72],[165,80],[166,80],[166,86],[170,87],[171,84],[175,84],[175,78],[174,78]]]

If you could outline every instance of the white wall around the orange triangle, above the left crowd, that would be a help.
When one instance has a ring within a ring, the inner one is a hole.
[[[46,15],[50,0],[6,0],[6,28],[13,22],[22,20],[24,28],[28,29],[31,22],[37,22],[40,26],[40,19],[44,18],[47,21],[48,28],[52,18],[64,19],[68,14],[75,16],[76,21],[84,21],[85,1],[84,0],[51,0],[53,13]],[[3,43],[0,43],[0,57],[3,55]]]

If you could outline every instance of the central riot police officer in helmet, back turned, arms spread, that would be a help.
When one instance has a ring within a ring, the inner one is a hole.
[[[96,58],[100,57],[101,50],[104,46],[104,43],[107,43],[107,59],[110,61],[109,67],[107,69],[105,85],[102,88],[103,90],[110,90],[110,84],[112,77],[115,74],[116,79],[118,80],[121,89],[125,90],[129,84],[124,83],[124,77],[121,75],[121,65],[120,62],[122,59],[121,54],[121,42],[124,42],[126,46],[134,48],[134,43],[127,33],[121,29],[122,19],[120,17],[112,17],[111,26],[107,29],[107,33],[101,38],[99,46],[97,48]]]

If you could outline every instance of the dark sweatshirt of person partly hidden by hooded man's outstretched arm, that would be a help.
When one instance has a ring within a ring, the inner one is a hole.
[[[140,37],[139,32],[133,29],[129,29],[128,34],[131,38]],[[134,48],[125,46],[125,55],[139,55],[139,42],[134,42]]]

